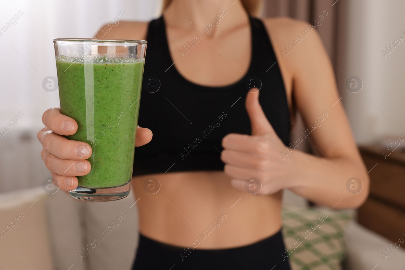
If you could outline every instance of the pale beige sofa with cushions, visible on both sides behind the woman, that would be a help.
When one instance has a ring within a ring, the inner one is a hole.
[[[42,187],[0,194],[0,230],[10,229],[0,234],[0,269],[132,269],[138,242],[134,202],[132,194],[115,202],[81,202],[60,190],[47,194]],[[287,192],[285,203],[302,200]],[[345,239],[346,270],[405,269],[402,248],[384,261],[381,253],[392,243],[357,223],[347,226]]]

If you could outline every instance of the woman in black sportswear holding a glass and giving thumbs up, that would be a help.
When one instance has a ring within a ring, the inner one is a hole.
[[[135,151],[132,179],[134,268],[290,269],[282,190],[354,208],[369,187],[322,42],[308,23],[253,19],[259,1],[167,2],[163,17],[120,22],[102,36],[148,41],[139,125],[153,140],[138,127],[136,146],[146,145]],[[310,34],[286,55],[302,30]],[[296,110],[308,130],[290,142]],[[91,148],[61,136],[77,123],[58,108],[43,123],[41,156],[60,189],[73,190],[75,176],[90,171],[80,159]],[[294,149],[308,134],[320,157]],[[351,177],[361,192],[347,191]]]

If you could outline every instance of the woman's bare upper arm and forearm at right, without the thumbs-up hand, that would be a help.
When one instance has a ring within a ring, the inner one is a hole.
[[[303,29],[309,26],[301,25]],[[341,96],[335,83],[333,63],[328,59],[315,29],[294,49],[297,49],[296,53],[292,51],[291,55],[287,55],[291,56],[287,61],[292,62],[290,64],[294,67],[296,106],[306,128],[311,125],[316,127],[315,121],[321,125],[309,135],[319,157],[301,151],[291,152],[291,157],[296,159],[298,178],[291,190],[318,204],[333,207],[341,200],[336,208],[360,206],[369,193],[369,177],[354,142],[343,103],[341,100],[338,102]],[[319,115],[324,112],[328,116],[319,121]],[[357,194],[350,193],[346,188],[346,182],[351,177],[357,177],[362,182],[362,191]]]

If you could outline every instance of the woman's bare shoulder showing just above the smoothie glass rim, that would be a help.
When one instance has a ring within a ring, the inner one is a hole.
[[[105,24],[96,33],[100,39],[140,39],[145,40],[148,21],[118,21]]]

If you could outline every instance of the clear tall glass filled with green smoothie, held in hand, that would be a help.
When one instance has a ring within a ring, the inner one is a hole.
[[[141,98],[145,40],[57,38],[60,111],[76,120],[69,140],[87,142],[90,173],[69,191],[79,200],[128,196]]]

